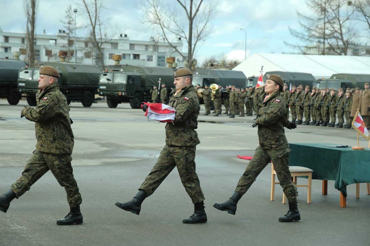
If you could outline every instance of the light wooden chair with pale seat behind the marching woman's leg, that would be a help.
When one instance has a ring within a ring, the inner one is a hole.
[[[307,167],[299,167],[299,166],[290,166],[289,167],[290,174],[293,177],[293,183],[297,187],[307,187],[307,203],[311,203],[311,184],[312,184],[312,169],[309,169]],[[276,171],[274,169],[274,164],[271,163],[271,197],[270,200],[274,200],[274,194],[275,194],[275,184],[280,184],[279,182],[275,182],[275,175]],[[307,184],[299,184],[297,185],[297,177],[299,176],[308,176],[308,182]],[[283,193],[283,204],[285,204],[285,194]]]

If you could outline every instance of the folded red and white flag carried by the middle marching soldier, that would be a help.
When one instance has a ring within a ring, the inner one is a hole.
[[[148,105],[145,116],[160,122],[174,122],[175,109],[163,103],[145,103]],[[142,107],[142,105],[141,105]]]

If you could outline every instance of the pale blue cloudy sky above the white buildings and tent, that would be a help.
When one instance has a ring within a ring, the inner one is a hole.
[[[204,0],[204,3],[212,0]],[[158,31],[148,28],[142,23],[143,13],[135,7],[139,0],[104,0],[104,17],[110,17],[111,25],[117,26],[122,33],[134,40],[149,40],[158,36]],[[179,8],[175,0],[162,0],[164,11],[176,11],[178,16],[184,16],[184,10]],[[212,1],[213,2],[213,1]],[[82,14],[82,0],[38,0],[36,32],[41,34],[56,34],[63,29],[60,20],[64,19],[65,10],[71,4],[77,8],[77,26],[84,26],[87,20]],[[0,26],[3,31],[25,32],[26,17],[22,0],[0,0]],[[196,59],[201,64],[205,58],[226,54],[230,60],[244,60],[245,32],[247,33],[246,55],[255,52],[295,52],[284,44],[284,41],[298,43],[288,31],[288,26],[299,28],[296,11],[307,11],[305,0],[219,0],[215,18],[209,23],[212,32],[208,39],[198,45]],[[77,35],[88,32],[80,28]],[[183,52],[187,50],[184,43]]]

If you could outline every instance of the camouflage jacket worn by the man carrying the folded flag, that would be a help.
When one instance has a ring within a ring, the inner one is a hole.
[[[176,96],[169,98],[169,106],[175,108],[175,121],[166,124],[166,145],[195,146],[200,143],[195,129],[201,109],[194,86],[183,88]]]

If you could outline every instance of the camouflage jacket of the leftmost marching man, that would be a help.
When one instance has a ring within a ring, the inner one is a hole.
[[[67,99],[57,83],[47,86],[36,94],[36,108],[24,108],[21,115],[34,121],[36,149],[58,155],[72,154],[74,135]]]

